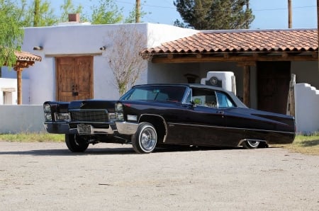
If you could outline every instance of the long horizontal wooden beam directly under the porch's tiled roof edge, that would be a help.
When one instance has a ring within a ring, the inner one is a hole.
[[[318,53],[317,53],[318,54]],[[270,56],[270,55],[259,55],[256,56],[226,56],[226,57],[214,57],[214,56],[206,56],[201,58],[196,58],[194,55],[180,57],[175,55],[174,58],[168,59],[167,57],[152,57],[153,63],[187,63],[187,62],[246,62],[246,61],[254,61],[254,62],[269,62],[269,61],[318,61],[317,57],[313,57],[312,55],[286,55],[282,57],[282,55]]]

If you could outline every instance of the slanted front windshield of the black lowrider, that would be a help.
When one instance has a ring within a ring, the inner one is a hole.
[[[181,102],[186,86],[136,86],[121,97],[128,101]]]

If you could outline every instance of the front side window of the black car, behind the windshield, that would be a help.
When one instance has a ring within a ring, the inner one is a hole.
[[[193,89],[191,100],[199,106],[217,108],[216,93],[210,89]]]

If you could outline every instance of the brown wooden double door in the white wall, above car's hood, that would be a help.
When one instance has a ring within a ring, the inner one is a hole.
[[[93,98],[93,57],[57,57],[57,101]]]

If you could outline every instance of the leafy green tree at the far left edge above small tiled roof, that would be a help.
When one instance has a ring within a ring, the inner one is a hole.
[[[23,29],[18,21],[20,9],[16,1],[0,0],[0,66],[16,64],[16,50],[21,50]]]

